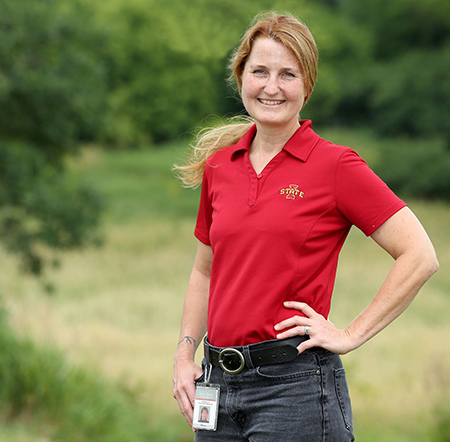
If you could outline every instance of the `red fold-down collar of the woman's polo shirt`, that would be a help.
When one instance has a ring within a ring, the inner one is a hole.
[[[311,128],[311,120],[300,120],[301,126],[292,135],[288,142],[283,147],[283,150],[292,155],[293,157],[305,162],[312,150],[320,140]],[[234,160],[236,153],[239,151],[248,151],[250,149],[250,143],[256,133],[256,124],[254,124],[246,134],[234,145],[231,150],[231,160]]]

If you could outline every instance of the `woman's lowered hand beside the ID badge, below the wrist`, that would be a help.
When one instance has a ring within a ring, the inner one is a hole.
[[[176,355],[173,367],[173,397],[177,400],[186,422],[192,427],[195,400],[195,380],[202,369],[192,356]]]

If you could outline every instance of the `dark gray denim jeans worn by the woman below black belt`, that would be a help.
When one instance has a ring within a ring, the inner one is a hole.
[[[221,390],[217,431],[198,430],[196,442],[355,440],[341,358],[327,350],[236,375],[213,367],[210,382]]]

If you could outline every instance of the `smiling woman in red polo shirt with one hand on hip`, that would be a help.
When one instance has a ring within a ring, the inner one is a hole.
[[[221,389],[217,431],[199,430],[197,441],[354,440],[338,355],[391,323],[438,268],[405,203],[354,151],[299,120],[317,60],[294,17],[257,17],[231,60],[252,121],[206,133],[179,168],[186,184],[203,184],[173,394],[192,424],[204,378],[194,354],[206,332],[204,366]],[[352,225],[395,263],[339,330],[327,317]]]

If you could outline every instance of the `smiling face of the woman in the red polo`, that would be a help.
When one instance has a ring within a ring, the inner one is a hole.
[[[298,127],[306,98],[299,63],[279,41],[256,39],[242,73],[241,95],[259,127]]]

